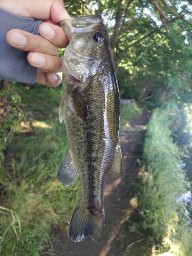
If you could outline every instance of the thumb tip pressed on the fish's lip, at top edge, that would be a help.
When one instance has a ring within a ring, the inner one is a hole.
[[[62,0],[55,0],[51,6],[51,20],[54,23],[59,23],[62,19],[71,18],[66,11]]]

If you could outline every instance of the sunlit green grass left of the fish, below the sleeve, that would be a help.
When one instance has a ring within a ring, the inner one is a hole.
[[[27,90],[17,84],[17,91],[27,106],[8,139],[0,170],[6,202],[6,209],[0,208],[0,254],[34,256],[51,242],[51,224],[69,225],[80,181],[66,187],[56,179],[69,148],[65,125],[58,120],[60,90],[37,84]]]

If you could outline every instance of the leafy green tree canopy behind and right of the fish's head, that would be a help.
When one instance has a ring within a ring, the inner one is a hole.
[[[72,16],[102,15],[122,98],[153,99],[156,106],[191,102],[192,16],[185,0],[86,0],[65,5]]]

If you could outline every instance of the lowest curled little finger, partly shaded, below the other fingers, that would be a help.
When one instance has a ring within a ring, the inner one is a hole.
[[[49,87],[57,87],[61,83],[61,78],[57,74],[52,74],[46,71],[37,69],[36,82]]]

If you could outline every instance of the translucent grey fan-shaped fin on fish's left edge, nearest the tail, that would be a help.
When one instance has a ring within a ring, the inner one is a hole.
[[[68,151],[63,157],[57,169],[57,180],[63,185],[70,186],[78,178],[78,173]]]

